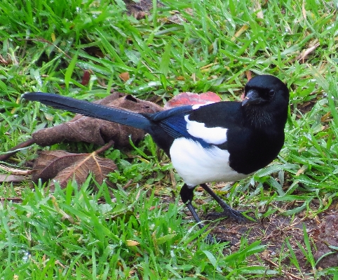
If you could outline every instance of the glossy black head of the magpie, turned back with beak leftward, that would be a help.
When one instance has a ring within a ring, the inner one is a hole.
[[[288,104],[289,90],[276,76],[255,76],[245,85],[242,108],[256,126],[273,124],[277,119],[285,126]]]

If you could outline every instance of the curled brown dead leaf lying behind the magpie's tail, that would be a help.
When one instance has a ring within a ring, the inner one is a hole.
[[[153,102],[143,101],[134,98],[132,95],[114,93],[97,102],[102,105],[128,109],[137,113],[155,113],[163,108]],[[62,141],[89,142],[96,145],[104,145],[110,140],[114,140],[117,147],[129,147],[129,135],[133,142],[144,138],[144,131],[116,124],[111,121],[93,119],[88,116],[76,114],[74,119],[65,124],[44,128],[32,134],[36,144],[45,147],[60,143]]]

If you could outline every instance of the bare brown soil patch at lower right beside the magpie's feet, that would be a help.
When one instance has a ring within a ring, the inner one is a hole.
[[[252,265],[265,262],[271,269],[283,267],[281,271],[283,276],[269,279],[313,279],[310,276],[313,267],[308,261],[309,258],[306,258],[302,251],[303,248],[308,254],[303,227],[305,226],[309,236],[308,240],[314,261],[318,262],[315,269],[338,267],[337,206],[338,204],[332,204],[327,211],[313,218],[309,218],[306,213],[299,213],[294,218],[275,213],[269,218],[245,223],[238,223],[226,218],[221,220],[211,233],[220,239],[231,241],[233,244],[231,251],[238,250],[244,236],[247,237],[249,243],[261,241],[262,245],[266,245],[266,250],[250,258],[249,261],[252,262]],[[192,217],[187,216],[187,218],[191,219]],[[297,261],[292,260],[287,243],[290,244]],[[295,267],[295,262],[299,264],[299,269]]]

